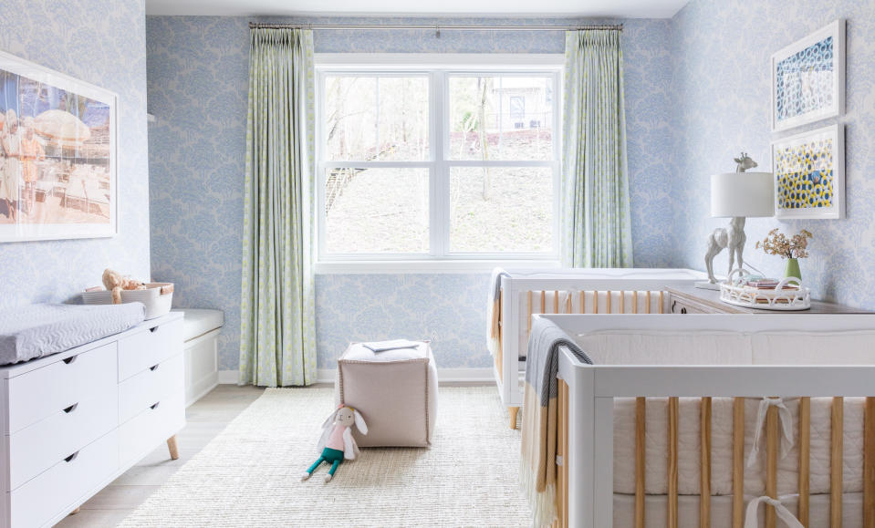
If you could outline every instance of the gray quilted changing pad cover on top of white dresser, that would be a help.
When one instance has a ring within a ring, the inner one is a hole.
[[[49,356],[137,325],[141,303],[26,305],[0,310],[0,365]]]

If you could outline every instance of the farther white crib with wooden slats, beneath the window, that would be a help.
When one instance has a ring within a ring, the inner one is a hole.
[[[495,382],[509,409],[511,428],[523,404],[519,361],[526,353],[533,314],[661,314],[668,313],[667,286],[707,280],[688,269],[589,268],[517,270],[501,279],[501,338],[494,350]]]

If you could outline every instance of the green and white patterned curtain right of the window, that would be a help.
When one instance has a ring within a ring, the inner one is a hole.
[[[562,151],[562,260],[630,267],[620,31],[568,31]]]

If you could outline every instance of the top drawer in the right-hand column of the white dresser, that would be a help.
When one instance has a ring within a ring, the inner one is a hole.
[[[119,381],[182,353],[182,320],[119,339]]]

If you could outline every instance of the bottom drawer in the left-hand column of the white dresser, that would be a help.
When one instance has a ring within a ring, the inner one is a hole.
[[[78,506],[73,502],[118,470],[118,450],[117,433],[109,432],[10,492],[12,525],[42,526],[65,508]]]

